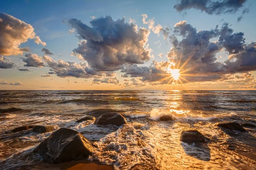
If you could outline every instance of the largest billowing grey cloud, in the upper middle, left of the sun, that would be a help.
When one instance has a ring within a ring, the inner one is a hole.
[[[68,21],[81,39],[73,54],[80,54],[95,71],[117,71],[124,65],[143,64],[150,59],[149,31],[133,23],[114,21],[111,16],[90,21],[92,27],[81,20]]]

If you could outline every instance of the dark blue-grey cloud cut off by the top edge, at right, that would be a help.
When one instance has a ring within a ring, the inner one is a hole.
[[[247,0],[180,0],[174,8],[181,12],[186,9],[198,9],[212,15],[234,14],[244,6]]]

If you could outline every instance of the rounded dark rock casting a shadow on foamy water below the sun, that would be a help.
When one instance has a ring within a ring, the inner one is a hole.
[[[203,143],[204,135],[198,132],[198,130],[186,130],[181,133],[180,141],[186,143]]]

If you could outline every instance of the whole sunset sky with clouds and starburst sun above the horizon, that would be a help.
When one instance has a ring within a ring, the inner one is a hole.
[[[256,90],[256,0],[0,4],[0,90]]]

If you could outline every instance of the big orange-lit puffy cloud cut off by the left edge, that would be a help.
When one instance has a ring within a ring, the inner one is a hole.
[[[5,13],[0,13],[0,37],[0,55],[18,55],[29,51],[28,47],[19,47],[28,39],[35,39],[36,43],[46,45],[35,35],[34,28],[30,24]]]

